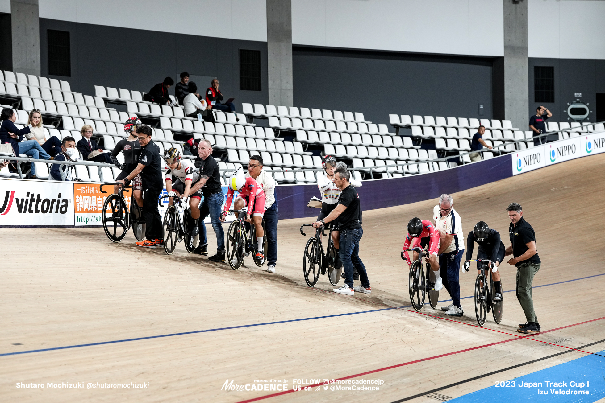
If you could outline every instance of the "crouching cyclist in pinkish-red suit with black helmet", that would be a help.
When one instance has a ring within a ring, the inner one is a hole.
[[[401,259],[404,259],[411,268],[412,260],[406,249],[416,247],[424,248],[428,251],[426,257],[427,263],[431,264],[431,270],[435,275],[435,291],[443,288],[443,280],[439,272],[439,262],[437,261],[437,251],[439,250],[439,231],[428,220],[420,220],[417,217],[408,222],[408,236],[405,238],[404,249],[401,251]],[[413,252],[413,260],[418,259],[418,253]]]

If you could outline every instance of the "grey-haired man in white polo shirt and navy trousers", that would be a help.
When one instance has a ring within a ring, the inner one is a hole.
[[[462,316],[460,305],[460,260],[464,253],[464,234],[462,220],[454,210],[454,200],[450,195],[441,195],[439,205],[433,208],[435,228],[439,231],[439,267],[443,286],[450,293],[452,303],[442,307],[446,315]]]

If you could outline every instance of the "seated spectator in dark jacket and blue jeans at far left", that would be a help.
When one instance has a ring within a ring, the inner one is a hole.
[[[2,144],[9,143],[11,144],[11,146],[13,146],[15,156],[19,156],[19,154],[25,154],[27,156],[30,156],[31,158],[36,159],[52,159],[52,157],[48,155],[47,152],[44,151],[44,149],[42,149],[38,141],[22,141],[24,135],[28,134],[31,131],[31,124],[28,124],[28,126],[24,129],[17,129],[14,124],[17,120],[17,117],[13,109],[2,109],[2,112],[0,112],[0,120],[2,121],[2,126],[0,126],[0,140],[2,141]],[[34,166],[34,164],[31,164],[30,178],[37,179],[36,167]]]

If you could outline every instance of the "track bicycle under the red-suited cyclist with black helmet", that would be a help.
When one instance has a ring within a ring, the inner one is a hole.
[[[439,291],[435,291],[435,274],[431,270],[431,264],[427,262],[427,271],[425,273],[422,265],[422,258],[428,256],[428,251],[424,248],[407,249],[404,252],[417,252],[418,259],[414,260],[410,266],[410,275],[408,276],[408,289],[410,290],[410,300],[414,310],[420,311],[424,306],[424,300],[428,292],[428,302],[431,308],[437,306],[439,301]]]

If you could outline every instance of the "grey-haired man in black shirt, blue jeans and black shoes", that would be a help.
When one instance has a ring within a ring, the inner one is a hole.
[[[225,234],[223,225],[220,221],[220,214],[223,207],[224,193],[221,187],[220,170],[217,160],[212,157],[212,144],[204,139],[200,140],[197,146],[197,155],[200,158],[195,160],[195,166],[200,169],[200,181],[192,188],[191,192],[197,192],[201,189],[201,195],[204,196],[200,205],[200,244],[194,252],[202,255],[208,254],[208,238],[206,237],[206,224],[204,219],[210,216],[212,228],[217,235],[217,253],[208,258],[211,262],[225,261]]]

